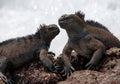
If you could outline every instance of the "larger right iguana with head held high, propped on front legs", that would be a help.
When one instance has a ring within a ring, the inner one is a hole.
[[[68,35],[68,42],[62,52],[64,61],[62,72],[67,76],[74,70],[70,63],[72,50],[90,60],[85,66],[87,69],[95,70],[106,49],[120,47],[120,41],[107,29],[88,24],[84,17],[78,14],[65,14],[58,22]]]

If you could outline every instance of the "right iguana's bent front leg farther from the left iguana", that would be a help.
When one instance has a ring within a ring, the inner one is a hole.
[[[98,64],[105,52],[106,47],[101,41],[92,38],[92,40],[90,40],[89,48],[94,50],[94,53],[85,67],[90,70],[98,70]]]

